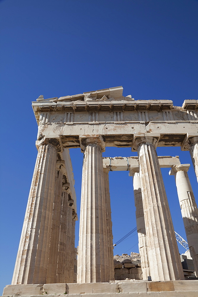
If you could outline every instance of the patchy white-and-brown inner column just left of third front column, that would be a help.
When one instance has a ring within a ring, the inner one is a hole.
[[[134,200],[135,200],[135,207],[136,207],[135,214],[136,214],[136,222],[137,222],[142,275],[143,275],[143,279],[148,280],[148,276],[150,276],[149,257],[147,255],[148,245],[147,245],[146,228],[145,228],[145,221],[144,221],[140,173],[139,173],[139,168],[135,168],[131,171],[132,172],[130,172],[130,175],[132,174],[133,176]]]

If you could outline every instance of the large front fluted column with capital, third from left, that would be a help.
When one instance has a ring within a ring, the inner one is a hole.
[[[162,173],[156,152],[157,138],[136,138],[143,210],[152,281],[183,279]]]

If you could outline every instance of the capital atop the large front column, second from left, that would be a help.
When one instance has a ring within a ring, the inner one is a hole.
[[[105,142],[103,140],[102,135],[100,134],[93,134],[93,135],[80,135],[80,147],[81,151],[84,152],[85,147],[87,145],[99,145],[102,151],[105,151]]]

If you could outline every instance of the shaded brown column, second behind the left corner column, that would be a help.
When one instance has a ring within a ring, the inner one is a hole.
[[[66,283],[67,271],[69,267],[66,253],[68,246],[66,243],[67,232],[67,220],[68,220],[68,191],[67,187],[62,188],[62,205],[61,205],[61,217],[60,217],[60,238],[58,248],[58,264],[57,264],[57,283]]]

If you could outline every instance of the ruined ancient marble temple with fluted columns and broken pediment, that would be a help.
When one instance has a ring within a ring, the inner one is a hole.
[[[134,100],[122,96],[122,91],[115,87],[60,98],[39,96],[32,102],[39,127],[38,156],[12,285],[4,288],[3,296],[197,294],[198,280],[184,280],[160,170],[170,167],[175,176],[198,277],[198,210],[187,174],[190,165],[181,164],[177,156],[157,156],[156,147],[188,150],[198,180],[198,100],[185,100],[177,107],[170,100]],[[138,157],[103,158],[106,146],[131,147]],[[84,154],[77,264],[69,148],[81,148]],[[128,170],[133,176],[143,280],[114,279],[110,170]]]

